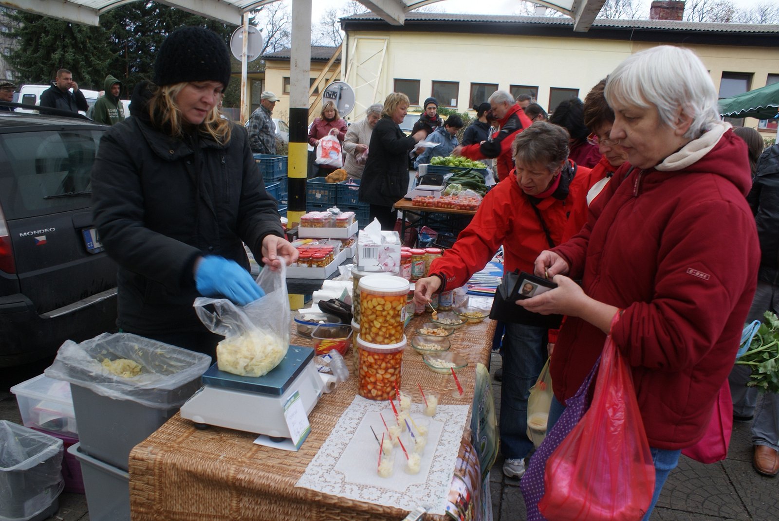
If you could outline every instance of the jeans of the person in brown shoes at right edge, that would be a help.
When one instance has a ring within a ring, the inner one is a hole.
[[[749,315],[746,322],[762,320],[763,313],[779,312],[779,286],[758,281]],[[728,376],[731,395],[733,396],[733,414],[738,416],[755,415],[752,424],[753,445],[766,445],[779,450],[779,396],[776,393],[765,393],[760,406],[757,405],[757,388],[747,387],[751,369],[746,365],[735,365]]]

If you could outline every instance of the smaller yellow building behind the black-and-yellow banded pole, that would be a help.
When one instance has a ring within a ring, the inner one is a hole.
[[[336,47],[319,45],[311,46],[311,85],[319,77],[319,72],[322,72],[327,63],[330,62],[330,58],[333,58],[333,53],[337,49]],[[290,49],[282,49],[281,51],[263,55],[263,60],[265,60],[265,90],[270,90],[279,98],[276,107],[273,109],[273,118],[280,118],[288,122],[290,109]],[[340,71],[338,67],[340,65],[339,57],[333,60],[333,65],[335,67],[331,67],[330,71],[326,73],[322,88],[340,79],[340,74],[338,74]],[[319,90],[317,88],[312,93],[310,101],[312,104],[315,102]],[[312,117],[308,118],[309,121],[313,121],[313,118],[318,115],[319,111],[316,111],[316,114],[312,114]]]

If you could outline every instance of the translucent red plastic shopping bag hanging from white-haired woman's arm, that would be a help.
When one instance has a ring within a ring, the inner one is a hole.
[[[611,336],[590,410],[549,456],[544,486],[538,508],[546,519],[636,521],[649,508],[654,463],[633,378]]]

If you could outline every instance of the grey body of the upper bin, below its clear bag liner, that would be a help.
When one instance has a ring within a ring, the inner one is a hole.
[[[171,396],[171,403],[187,400],[200,387],[200,378],[178,387],[173,392],[175,396]],[[81,450],[122,470],[128,470],[132,448],[179,409],[154,409],[132,400],[114,400],[80,385],[71,384],[70,390],[79,424]]]

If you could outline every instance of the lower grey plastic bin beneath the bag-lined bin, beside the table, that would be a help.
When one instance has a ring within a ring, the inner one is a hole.
[[[68,452],[81,463],[90,521],[130,521],[130,475],[85,454],[79,444]]]

